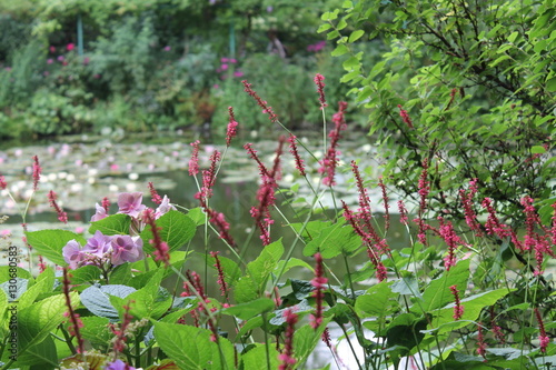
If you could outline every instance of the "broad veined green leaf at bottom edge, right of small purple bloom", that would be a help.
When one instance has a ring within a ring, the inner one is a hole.
[[[219,337],[218,343],[210,340],[207,329],[155,322],[155,338],[165,353],[182,370],[234,369],[234,346]]]

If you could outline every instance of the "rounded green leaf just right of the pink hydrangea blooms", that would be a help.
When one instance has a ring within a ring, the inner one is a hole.
[[[159,233],[162,241],[168,243],[170,252],[181,248],[185,243],[191,240],[197,229],[196,223],[187,214],[179,211],[169,211],[156,220],[157,228],[160,228]],[[152,231],[149,226],[141,232],[143,241],[143,250],[146,253],[151,253],[155,248],[150,244]]]

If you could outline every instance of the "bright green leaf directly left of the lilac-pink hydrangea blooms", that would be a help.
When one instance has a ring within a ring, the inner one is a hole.
[[[68,230],[40,230],[26,233],[27,241],[37,252],[56,264],[68,266],[62,256],[62,248],[68,241],[77,240],[85,244],[85,239],[80,234]]]

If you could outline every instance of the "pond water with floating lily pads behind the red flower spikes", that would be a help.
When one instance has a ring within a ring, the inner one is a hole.
[[[116,200],[122,191],[142,191],[145,193],[143,203],[155,206],[150,201],[147,183],[153,182],[159,193],[168,194],[172,203],[180,204],[187,209],[198,206],[195,193],[198,191],[197,182],[188,173],[188,161],[191,153],[189,142],[191,140],[175,140],[166,143],[118,143],[108,139],[81,138],[80,142],[73,143],[51,143],[48,146],[33,146],[23,148],[11,148],[0,151],[0,173],[6,177],[8,189],[0,193],[0,214],[9,216],[9,219],[0,224],[2,234],[11,233],[16,243],[21,243],[19,237],[22,236],[20,223],[21,210],[30,200],[29,211],[26,221],[29,230],[42,230],[48,228],[63,228],[71,231],[86,232],[89,220],[95,213],[95,203],[100,202],[103,197],[112,201],[111,212],[117,211]],[[176,139],[176,138],[173,138]],[[322,150],[310,140],[304,140],[316,158],[322,157]],[[261,160],[270,166],[274,159],[276,140],[258,140],[254,148],[258,150]],[[208,157],[212,150],[224,151],[222,147],[212,144],[201,144],[200,164],[201,168],[208,166]],[[286,148],[285,148],[286,149]],[[337,187],[335,187],[335,198],[329,192],[324,192],[319,198],[320,203],[326,207],[334,206],[339,199],[348,204],[356,206],[357,193],[351,183],[351,172],[349,161],[360,159],[359,167],[369,181],[369,196],[375,206],[377,223],[384,223],[381,206],[381,194],[376,187],[378,178],[378,162],[376,151],[367,142],[365,136],[346,138],[340,143],[342,162],[337,172]],[[39,183],[39,191],[32,192],[32,160],[37,154],[42,167],[42,177]],[[310,156],[302,156],[312,171],[309,178],[314,187],[318,187],[320,176],[317,173],[318,163]],[[262,249],[257,230],[254,230],[254,222],[249,214],[251,206],[257,204],[256,192],[258,189],[258,169],[246,151],[241,147],[230,147],[224,160],[224,166],[218,174],[217,183],[214,188],[211,206],[219,212],[225,213],[227,221],[231,224],[230,233],[244,246],[246,259],[255,259]],[[302,178],[295,174],[295,162],[291,156],[285,150],[282,158],[282,180],[280,189],[289,189],[292,184],[298,184],[298,196],[311,201],[312,193]],[[200,178],[199,178],[200,181]],[[59,202],[68,212],[70,222],[64,226],[57,220],[57,214],[48,206],[47,192],[54,190],[58,193]],[[320,193],[321,190],[318,190]],[[13,198],[10,198],[11,197]],[[300,222],[306,216],[299,217],[299,207],[289,204],[280,206],[289,198],[288,194],[277,194],[277,204],[281,214],[274,212],[275,224],[271,229],[272,240],[282,238],[286,251],[294,242],[294,233],[288,227],[289,222]],[[390,211],[396,211],[396,199],[390,200]],[[294,204],[296,206],[296,204]],[[304,213],[305,214],[305,213]],[[316,219],[325,218],[326,214],[334,216],[335,211],[321,212],[315,216]],[[409,244],[409,237],[405,229],[397,222],[397,214],[393,214],[391,229],[389,230],[389,243],[391,248],[403,248]],[[205,240],[202,227],[198,229],[196,238],[189,248],[198,253],[186,263],[186,269],[192,269],[201,273],[205,269],[202,253],[206,249],[219,250],[222,256],[229,256],[225,244],[216,236]],[[312,264],[311,259],[302,256],[302,246],[298,243],[292,252],[292,257],[306,259]],[[359,253],[349,259],[350,269],[358,269],[368,261],[366,253]],[[1,262],[0,262],[1,263]],[[346,274],[346,263],[344,260],[328,260],[327,267],[339,280],[344,280]],[[296,279],[311,279],[311,272],[295,268],[286,277]],[[219,288],[216,279],[207,287],[209,294],[215,294]],[[369,282],[370,283],[370,282]],[[175,288],[175,282],[167,282],[167,288]],[[359,286],[358,288],[365,288]],[[229,323],[224,330],[234,330],[234,324]],[[342,333],[335,329],[332,337],[338,338]],[[339,348],[339,351],[342,347]],[[347,349],[346,349],[347,350]],[[319,354],[320,353],[320,354]],[[330,361],[326,347],[319,347],[315,356],[311,357],[311,367],[324,366]],[[342,357],[342,353],[339,353]],[[348,353],[344,353],[349,358]],[[332,366],[332,369],[335,367]]]

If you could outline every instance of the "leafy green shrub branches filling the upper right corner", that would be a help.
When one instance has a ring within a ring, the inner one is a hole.
[[[516,214],[525,194],[545,220],[556,199],[556,12],[546,1],[345,1],[322,16],[342,81],[371,109],[386,176],[417,194],[425,163],[443,212],[465,181]],[[370,41],[369,41],[370,40]],[[379,61],[358,44],[385,44]]]

